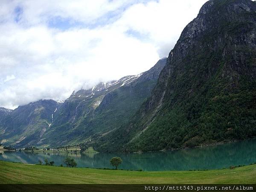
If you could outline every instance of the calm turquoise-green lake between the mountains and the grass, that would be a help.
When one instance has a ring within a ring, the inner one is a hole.
[[[123,160],[119,169],[142,169],[143,171],[222,169],[256,163],[256,140],[140,154],[55,154],[50,152],[5,151],[0,154],[0,160],[36,164],[38,160],[44,162],[44,159],[47,158],[48,161],[53,160],[55,165],[61,165],[67,156],[74,157],[78,167],[89,168],[112,169],[109,160],[111,157],[118,156]]]

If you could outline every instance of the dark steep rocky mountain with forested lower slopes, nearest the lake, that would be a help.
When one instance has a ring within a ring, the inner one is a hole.
[[[256,136],[256,3],[209,0],[180,35],[157,85],[98,151],[157,151]]]

